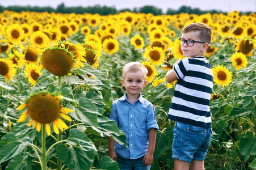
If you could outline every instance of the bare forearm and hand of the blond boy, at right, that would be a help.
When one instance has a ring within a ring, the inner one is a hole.
[[[156,145],[156,136],[157,136],[157,131],[156,129],[152,128],[149,129],[149,148],[148,152],[146,152],[146,155],[143,158],[143,162],[145,166],[148,166],[153,163],[153,154],[154,154],[154,147]]]

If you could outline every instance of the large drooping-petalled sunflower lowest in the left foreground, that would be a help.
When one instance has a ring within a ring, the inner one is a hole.
[[[66,114],[73,111],[68,108],[61,107],[59,99],[62,100],[63,97],[53,96],[46,92],[31,96],[30,99],[27,100],[27,103],[16,108],[16,110],[22,111],[27,107],[27,111],[20,115],[17,122],[24,122],[27,117],[30,116],[30,121],[27,126],[33,125],[37,131],[40,131],[41,124],[45,124],[47,135],[51,135],[51,123],[56,134],[59,133],[58,129],[68,129],[68,126],[59,116],[65,120],[72,121],[72,119]]]

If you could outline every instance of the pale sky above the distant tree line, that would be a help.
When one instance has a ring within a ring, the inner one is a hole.
[[[256,12],[256,0],[0,0],[0,5],[7,6],[50,6],[57,8],[58,5],[64,3],[66,7],[75,6],[108,6],[115,7],[116,10],[124,8],[135,7],[140,8],[143,6],[155,6],[166,12],[168,8],[178,10],[181,6],[189,6],[191,8],[200,8],[200,10],[218,10],[223,12],[232,12],[238,10],[241,12]]]

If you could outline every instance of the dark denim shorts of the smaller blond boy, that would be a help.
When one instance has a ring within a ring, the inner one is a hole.
[[[151,165],[144,166],[143,158],[144,156],[138,159],[125,159],[116,154],[116,162],[120,170],[149,170]]]

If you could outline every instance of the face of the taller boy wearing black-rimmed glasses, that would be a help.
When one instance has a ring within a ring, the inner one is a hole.
[[[191,31],[187,33],[182,34],[182,39],[184,40],[194,40],[194,41],[200,41],[199,39],[199,31]],[[184,45],[181,45],[181,50],[183,53],[183,56],[185,57],[199,57],[204,56],[205,50],[207,50],[209,44],[208,43],[199,43],[194,42],[193,46],[188,46],[187,43]]]

